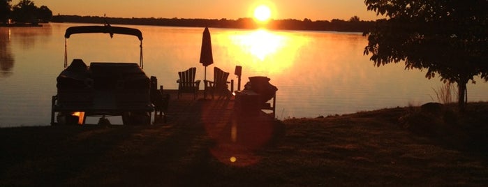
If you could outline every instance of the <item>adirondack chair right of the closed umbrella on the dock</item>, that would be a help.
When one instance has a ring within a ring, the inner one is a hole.
[[[225,96],[225,98],[230,98],[230,91],[228,90],[227,81],[229,73],[221,70],[220,68],[214,67],[214,81],[205,80],[205,91],[209,91],[212,94],[212,99],[218,94],[219,96]]]

